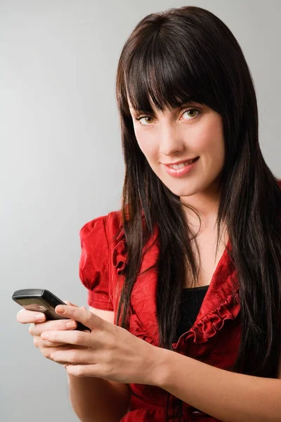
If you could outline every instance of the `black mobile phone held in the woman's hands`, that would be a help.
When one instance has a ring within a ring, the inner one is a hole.
[[[46,315],[46,319],[69,319],[67,316],[62,316],[55,312],[57,305],[66,305],[66,303],[49,290],[43,288],[15,290],[12,299],[29,311],[43,312]],[[74,329],[91,331],[89,327],[84,326],[79,321],[77,321],[77,328]]]

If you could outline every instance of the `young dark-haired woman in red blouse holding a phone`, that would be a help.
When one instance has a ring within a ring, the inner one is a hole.
[[[239,44],[202,8],[148,15],[117,102],[122,210],[80,232],[90,309],[57,308],[92,331],[37,321],[34,344],[84,422],[280,421],[281,183]]]

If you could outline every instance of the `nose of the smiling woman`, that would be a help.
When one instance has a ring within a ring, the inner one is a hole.
[[[181,136],[181,132],[173,124],[166,124],[159,136],[160,155],[172,156],[184,150],[183,136]]]

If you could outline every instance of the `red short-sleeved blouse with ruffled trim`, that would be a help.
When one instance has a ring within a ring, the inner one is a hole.
[[[88,303],[92,307],[115,312],[115,324],[119,293],[124,276],[126,243],[120,212],[110,212],[86,223],[80,231],[81,259],[79,276],[89,292]],[[155,264],[159,252],[155,242],[157,230],[150,238],[143,256],[141,271]],[[228,248],[231,249],[230,241]],[[120,276],[120,278],[119,278]],[[119,290],[117,288],[119,279]],[[173,344],[175,352],[205,362],[221,369],[233,370],[240,344],[240,302],[236,269],[226,249],[218,262],[211,284],[202,302],[200,312],[189,331]],[[157,269],[138,276],[131,293],[129,331],[139,338],[159,347],[156,314]],[[166,395],[162,388],[152,385],[130,384],[138,397],[131,395],[130,411],[122,422],[164,421]],[[169,407],[173,406],[171,395]],[[183,403],[182,421],[217,422],[218,419]]]

